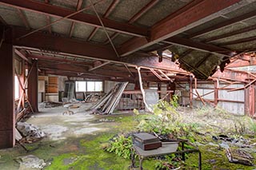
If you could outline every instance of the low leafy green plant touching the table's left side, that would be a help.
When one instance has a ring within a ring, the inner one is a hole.
[[[124,135],[120,135],[118,137],[114,137],[114,139],[110,141],[110,144],[106,148],[106,151],[114,152],[118,156],[122,156],[125,159],[130,159],[131,147],[132,147],[131,136],[126,137]]]

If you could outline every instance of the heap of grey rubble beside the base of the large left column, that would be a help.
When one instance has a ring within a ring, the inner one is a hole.
[[[18,122],[17,129],[22,133],[22,136],[26,137],[27,141],[33,141],[46,136],[45,132],[42,132],[35,125],[28,124],[26,122]]]

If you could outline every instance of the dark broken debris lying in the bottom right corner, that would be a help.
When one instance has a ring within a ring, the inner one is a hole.
[[[254,165],[252,162],[254,157],[241,149],[227,148],[226,156],[229,161],[234,164],[245,164],[249,166]]]

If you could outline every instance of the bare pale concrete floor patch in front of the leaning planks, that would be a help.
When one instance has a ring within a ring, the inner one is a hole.
[[[46,132],[45,140],[65,140],[68,137],[80,137],[106,130],[106,128],[101,127],[102,123],[95,121],[94,115],[85,111],[92,104],[79,105],[78,109],[70,109],[74,112],[71,115],[63,115],[62,113],[66,111],[66,108],[62,106],[40,109],[40,113],[36,113],[26,122],[37,125],[43,132]]]

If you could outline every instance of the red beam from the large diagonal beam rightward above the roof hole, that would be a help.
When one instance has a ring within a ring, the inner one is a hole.
[[[166,39],[167,42],[171,42],[174,45],[182,45],[190,49],[197,49],[203,52],[214,53],[217,55],[224,55],[230,57],[233,53],[229,49],[218,47],[216,45],[210,45],[203,42],[195,42],[186,38],[172,37]],[[166,42],[165,41],[165,42]]]

